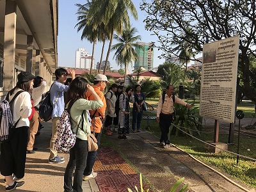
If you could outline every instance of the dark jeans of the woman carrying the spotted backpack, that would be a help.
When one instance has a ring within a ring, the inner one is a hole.
[[[64,189],[65,192],[70,191],[83,191],[82,182],[83,182],[83,172],[86,167],[87,159],[87,141],[80,140],[76,138],[76,144],[70,149],[69,161],[64,174]],[[74,180],[72,184],[72,176],[74,169]]]

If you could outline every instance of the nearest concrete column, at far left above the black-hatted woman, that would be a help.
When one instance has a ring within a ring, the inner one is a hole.
[[[3,91],[14,87],[17,4],[6,0],[4,20]]]

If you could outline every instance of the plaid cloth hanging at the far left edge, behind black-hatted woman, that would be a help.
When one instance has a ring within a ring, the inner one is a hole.
[[[3,100],[3,102],[0,103],[0,111],[2,116],[0,127],[0,141],[3,141],[8,138],[9,125],[13,125],[12,113],[10,110],[9,102],[7,100]]]

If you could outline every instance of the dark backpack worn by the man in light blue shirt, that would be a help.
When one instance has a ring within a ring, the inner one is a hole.
[[[51,85],[51,87],[52,87],[52,85]],[[50,90],[51,90],[51,88],[50,88]],[[60,95],[60,93],[58,94],[54,104],[56,104],[57,100],[59,99],[59,95]],[[50,94],[50,91],[48,91],[44,94],[44,99],[42,99],[40,102],[40,106],[39,106],[39,110],[38,110],[39,117],[42,120],[44,120],[44,122],[51,120],[52,110],[53,110],[53,106],[51,104],[51,94]]]

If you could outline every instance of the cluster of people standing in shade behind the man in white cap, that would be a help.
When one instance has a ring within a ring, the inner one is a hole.
[[[143,115],[143,102],[145,95],[141,93],[141,85],[136,84],[134,93],[131,86],[112,84],[106,93],[106,120],[104,123],[104,132],[107,135],[118,132],[119,140],[126,140],[126,134],[130,133],[130,103],[132,108],[132,132],[141,132],[140,124]],[[114,127],[111,127],[113,122]],[[136,126],[137,123],[137,126]]]

